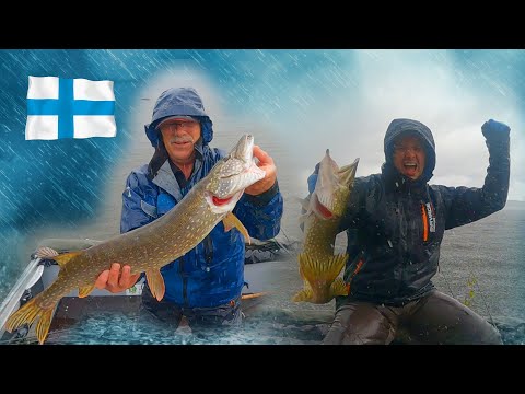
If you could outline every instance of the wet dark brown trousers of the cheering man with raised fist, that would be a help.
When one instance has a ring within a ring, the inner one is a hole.
[[[404,306],[348,301],[336,311],[325,345],[501,345],[499,332],[459,301],[438,290]]]

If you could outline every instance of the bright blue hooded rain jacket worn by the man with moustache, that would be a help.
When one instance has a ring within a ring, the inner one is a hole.
[[[156,126],[174,115],[192,116],[201,124],[201,140],[196,144],[196,162],[190,178],[180,188],[162,147]],[[210,148],[212,123],[194,89],[170,89],[159,97],[145,134],[155,154],[149,164],[132,171],[122,193],[120,232],[152,222],[175,207],[190,188],[202,179],[225,152]],[[164,154],[162,154],[164,152]],[[268,240],[280,231],[283,201],[276,185],[259,196],[244,194],[233,213],[252,237]],[[188,212],[190,215],[190,212]],[[164,300],[186,308],[210,308],[241,296],[244,281],[244,237],[237,229],[224,231],[222,222],[186,255],[161,268],[166,292]]]

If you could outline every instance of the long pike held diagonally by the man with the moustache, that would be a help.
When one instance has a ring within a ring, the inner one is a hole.
[[[161,267],[183,256],[222,220],[226,231],[237,228],[249,242],[244,225],[232,213],[244,189],[265,176],[253,158],[254,138],[245,135],[230,154],[220,160],[171,211],[155,221],[114,236],[82,251],[58,254],[49,247],[37,251],[40,258],[60,266],[58,278],[42,293],[12,314],[5,323],[9,332],[39,317],[36,336],[47,337],[52,312],[60,299],[74,289],[79,297],[93,291],[98,275],[113,263],[129,265],[132,274],[145,273],[152,294],[164,297]]]

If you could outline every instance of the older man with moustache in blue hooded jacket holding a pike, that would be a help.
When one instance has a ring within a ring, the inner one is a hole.
[[[149,164],[132,171],[126,181],[121,233],[166,213],[225,155],[224,151],[209,147],[213,138],[212,121],[201,97],[191,88],[163,92],[145,134],[155,152]],[[279,233],[283,201],[273,160],[257,146],[254,157],[266,176],[245,189],[233,212],[250,236],[268,240]],[[242,234],[236,229],[225,232],[219,222],[194,250],[161,269],[166,287],[161,302],[144,285],[143,308],[175,327],[183,315],[194,329],[240,323],[244,254]],[[120,265],[114,264],[101,274],[96,286],[120,292],[138,279],[139,275],[130,275],[129,266],[120,271]]]

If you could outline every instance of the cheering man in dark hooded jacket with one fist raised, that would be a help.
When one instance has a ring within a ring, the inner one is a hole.
[[[324,344],[389,344],[401,331],[412,343],[501,344],[492,325],[431,281],[444,231],[505,206],[510,128],[490,119],[481,130],[490,154],[485,185],[446,187],[428,184],[435,166],[430,129],[390,123],[382,173],[355,178],[342,220],[349,294],[338,298]]]

